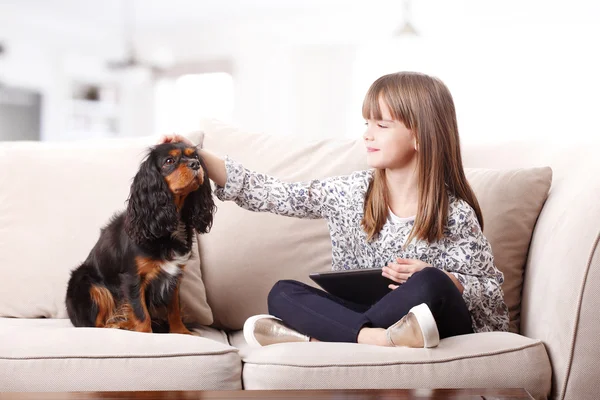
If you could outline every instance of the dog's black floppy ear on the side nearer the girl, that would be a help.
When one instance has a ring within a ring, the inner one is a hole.
[[[183,206],[183,220],[191,224],[199,234],[208,233],[212,227],[213,215],[216,211],[215,202],[210,187],[210,179],[206,173],[206,165],[200,158],[200,165],[204,173],[202,186],[191,192],[185,199]]]

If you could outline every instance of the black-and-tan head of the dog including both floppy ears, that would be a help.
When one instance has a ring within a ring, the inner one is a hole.
[[[206,233],[214,211],[206,166],[196,148],[164,143],[150,149],[133,178],[125,230],[138,244],[170,235],[179,221]]]

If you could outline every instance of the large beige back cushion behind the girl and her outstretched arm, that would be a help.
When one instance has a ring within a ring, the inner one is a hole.
[[[216,120],[202,127],[204,147],[245,167],[286,181],[323,178],[368,168],[363,143],[354,139],[307,142],[250,133]],[[476,151],[476,149],[473,149]],[[550,186],[549,168],[467,169],[484,214],[484,233],[505,274],[511,330],[517,330],[522,276],[531,232]],[[215,323],[240,329],[267,311],[267,294],[280,279],[311,285],[310,272],[331,269],[331,242],[324,220],[252,213],[234,202],[217,202],[213,230],[199,238],[202,273]]]

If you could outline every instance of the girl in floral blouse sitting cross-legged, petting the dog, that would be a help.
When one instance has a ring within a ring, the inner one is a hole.
[[[375,305],[279,281],[270,315],[244,324],[251,345],[289,341],[435,347],[440,338],[508,330],[508,309],[462,168],[454,102],[438,79],[395,73],[376,80],[362,109],[371,169],[284,183],[201,150],[221,200],[252,211],[326,218],[333,269],[383,267],[389,294]],[[163,142],[186,140],[167,136]]]

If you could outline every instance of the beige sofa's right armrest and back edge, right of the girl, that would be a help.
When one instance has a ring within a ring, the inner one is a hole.
[[[508,143],[467,148],[465,165],[550,165],[550,195],[525,269],[521,333],[544,342],[552,397],[597,397],[600,373],[600,158],[597,143]],[[595,278],[595,279],[594,279]]]

